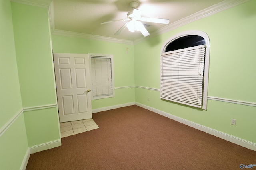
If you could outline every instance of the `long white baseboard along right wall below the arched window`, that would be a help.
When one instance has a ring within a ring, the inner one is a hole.
[[[252,143],[252,142],[250,142],[250,141],[246,141],[246,140],[244,140],[244,139],[240,139],[240,138],[238,138],[238,137],[229,135],[229,134],[227,134],[227,133],[223,133],[223,132],[217,131],[217,130],[215,130],[215,129],[211,129],[211,128],[209,128],[209,127],[200,125],[200,124],[198,124],[198,123],[194,123],[194,122],[192,122],[192,121],[188,121],[188,120],[186,120],[186,119],[177,117],[177,116],[175,116],[175,115],[171,115],[171,114],[166,113],[166,112],[164,112],[164,111],[160,111],[160,110],[158,110],[158,109],[155,109],[155,108],[153,108],[153,107],[146,106],[146,105],[144,105],[144,104],[140,104],[140,103],[138,103],[138,102],[135,102],[135,104],[136,104],[137,106],[143,107],[144,109],[153,111],[153,112],[158,113],[158,114],[160,114],[160,115],[162,115],[162,116],[164,116],[164,117],[168,117],[168,118],[170,118],[170,119],[173,119],[173,120],[175,120],[175,121],[178,121],[178,122],[180,122],[180,123],[183,123],[183,124],[185,124],[185,125],[188,125],[188,126],[190,126],[190,127],[193,127],[193,128],[195,128],[195,129],[198,129],[198,130],[203,131],[203,132],[205,132],[205,133],[209,133],[209,134],[211,134],[211,135],[214,135],[214,136],[219,137],[219,138],[221,138],[221,139],[224,139],[224,140],[226,140],[226,141],[230,141],[230,142],[235,143],[235,144],[237,144],[237,145],[240,145],[240,146],[242,146],[242,147],[245,147],[245,148],[248,148],[248,149],[251,149],[251,150],[256,151],[256,143]]]

